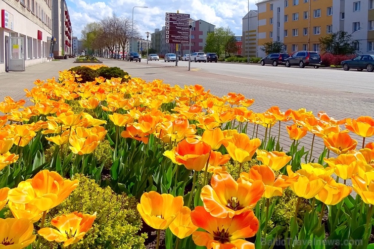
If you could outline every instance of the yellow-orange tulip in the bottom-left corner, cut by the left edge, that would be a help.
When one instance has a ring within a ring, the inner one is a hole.
[[[0,248],[22,249],[35,241],[34,226],[27,219],[0,218]]]

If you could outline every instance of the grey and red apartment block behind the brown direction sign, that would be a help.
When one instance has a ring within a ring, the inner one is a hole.
[[[191,52],[189,44],[179,44],[178,53],[180,55],[195,52],[203,52],[206,38],[209,33],[214,32],[215,25],[204,20],[196,20],[192,22],[191,28]],[[167,53],[175,53],[176,44],[165,43],[165,27],[162,30],[155,29],[151,34],[152,48],[156,49],[157,54],[165,55]]]

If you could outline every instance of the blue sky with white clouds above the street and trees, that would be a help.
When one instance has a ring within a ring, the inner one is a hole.
[[[257,10],[257,0],[249,0],[250,10]],[[136,25],[143,38],[146,32],[165,26],[165,13],[190,14],[194,20],[204,20],[218,27],[229,27],[236,35],[242,35],[242,18],[248,12],[248,0],[66,0],[73,35],[80,38],[81,30],[90,22],[100,21],[103,17],[127,17],[132,21],[134,6],[134,27]],[[151,38],[151,36],[150,36]]]

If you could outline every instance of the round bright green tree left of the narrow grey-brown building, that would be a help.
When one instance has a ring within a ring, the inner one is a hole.
[[[216,28],[214,32],[208,33],[203,51],[205,53],[216,53],[218,57],[223,54],[226,56],[227,54],[236,53],[238,47],[233,46],[232,42],[234,40],[236,41],[235,34],[229,27]]]

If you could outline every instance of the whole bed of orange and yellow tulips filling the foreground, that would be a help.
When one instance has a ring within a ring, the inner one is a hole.
[[[0,103],[4,248],[158,248],[160,237],[166,248],[373,246],[370,117],[253,113],[254,99],[240,93],[218,97],[102,65],[34,84],[25,90],[32,106]],[[280,148],[290,120],[292,145]],[[299,146],[308,132],[310,151]],[[325,149],[312,160],[316,139]],[[156,241],[143,242],[140,217]]]

